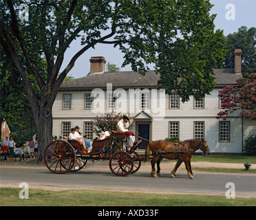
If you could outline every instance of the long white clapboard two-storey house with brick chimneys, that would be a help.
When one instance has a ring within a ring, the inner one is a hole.
[[[88,76],[62,83],[53,105],[53,135],[68,135],[74,126],[92,141],[93,120],[108,111],[135,117],[134,132],[148,140],[179,137],[180,140],[204,137],[212,153],[242,153],[242,142],[256,132],[256,124],[239,118],[238,112],[217,120],[221,111],[219,92],[237,85],[241,73],[241,50],[235,50],[234,69],[213,69],[215,88],[201,100],[188,102],[173,91],[158,88],[159,75],[148,71],[105,72],[105,58],[92,57]],[[145,148],[143,141],[139,148]]]

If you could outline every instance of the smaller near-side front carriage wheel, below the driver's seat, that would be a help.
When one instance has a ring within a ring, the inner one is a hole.
[[[119,151],[109,159],[109,168],[115,175],[124,177],[133,170],[134,161],[129,153]]]

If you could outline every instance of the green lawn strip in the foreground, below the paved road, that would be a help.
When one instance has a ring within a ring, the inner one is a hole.
[[[21,188],[0,188],[0,206],[256,206],[256,198],[226,199],[218,195],[159,194],[109,190],[30,189],[20,199]],[[106,199],[107,198],[107,199]]]

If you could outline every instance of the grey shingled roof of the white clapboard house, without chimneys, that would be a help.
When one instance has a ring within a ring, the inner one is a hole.
[[[242,74],[235,74],[234,69],[213,69],[215,74],[215,83],[217,87],[226,85],[236,85],[237,78],[241,78]],[[145,76],[137,72],[103,72],[90,74],[82,78],[61,84],[60,91],[65,90],[81,90],[81,89],[105,89],[107,83],[112,83],[113,88],[156,88],[160,74],[156,74],[154,70],[146,72]]]

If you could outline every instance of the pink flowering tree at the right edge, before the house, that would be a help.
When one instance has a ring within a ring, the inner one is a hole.
[[[227,86],[219,96],[221,107],[216,118],[224,118],[233,111],[240,110],[239,117],[256,120],[256,74],[250,74],[237,80],[238,87]]]

